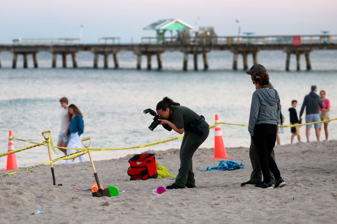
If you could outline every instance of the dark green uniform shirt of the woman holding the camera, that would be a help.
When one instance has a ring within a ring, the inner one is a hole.
[[[200,119],[201,117],[184,106],[173,106],[173,123],[178,129],[186,127],[187,124],[193,122],[195,119]],[[171,118],[171,116],[170,116]]]

